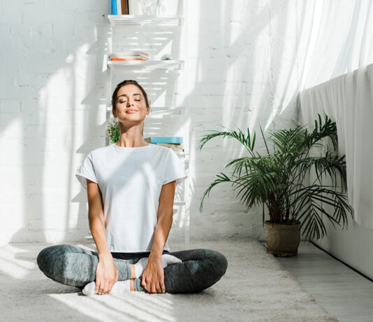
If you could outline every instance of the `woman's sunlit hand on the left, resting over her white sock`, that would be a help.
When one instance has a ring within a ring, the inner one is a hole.
[[[119,272],[112,259],[112,254],[98,255],[96,267],[96,287],[99,293],[110,293],[112,286],[118,281]]]

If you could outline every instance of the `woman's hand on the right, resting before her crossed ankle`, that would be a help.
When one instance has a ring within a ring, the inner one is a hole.
[[[147,267],[142,273],[141,284],[145,286],[149,293],[163,293],[166,291],[161,257],[149,255]]]

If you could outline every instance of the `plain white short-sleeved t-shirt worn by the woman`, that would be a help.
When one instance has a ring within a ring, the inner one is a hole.
[[[186,178],[175,151],[156,144],[96,148],[75,176],[85,189],[86,178],[100,188],[110,252],[150,252],[162,185],[176,180],[178,187]]]

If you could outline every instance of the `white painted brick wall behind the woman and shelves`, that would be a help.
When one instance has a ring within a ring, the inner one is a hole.
[[[105,144],[107,4],[0,3],[0,245],[84,238],[87,197],[74,174]],[[199,213],[205,189],[244,151],[232,139],[196,147],[218,123],[244,132],[258,122],[268,129],[291,124],[295,22],[292,1],[188,1],[187,89],[177,91],[177,102],[189,107],[191,238],[264,236],[261,208],[247,213],[231,185],[214,187]],[[162,91],[157,95],[161,100]]]

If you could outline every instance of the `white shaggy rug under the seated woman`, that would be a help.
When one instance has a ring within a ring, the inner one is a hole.
[[[95,250],[92,243],[68,244]],[[217,250],[228,259],[219,282],[196,294],[84,296],[38,269],[38,252],[50,245],[0,248],[1,321],[337,321],[255,239],[191,240],[190,249]],[[183,243],[170,247],[184,250]]]

